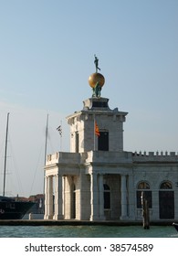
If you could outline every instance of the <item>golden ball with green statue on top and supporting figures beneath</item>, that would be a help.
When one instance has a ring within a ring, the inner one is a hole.
[[[93,91],[92,97],[100,98],[100,91],[102,89],[102,86],[104,85],[105,79],[103,75],[98,73],[99,59],[97,58],[96,55],[94,55],[94,57],[95,57],[94,63],[96,67],[96,72],[89,76],[89,85]]]

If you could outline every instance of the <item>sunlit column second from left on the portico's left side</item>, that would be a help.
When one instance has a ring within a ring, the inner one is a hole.
[[[62,176],[56,175],[56,182],[55,182],[55,215],[54,215],[53,219],[63,219],[62,209],[63,209]]]

